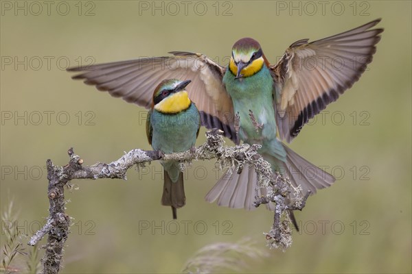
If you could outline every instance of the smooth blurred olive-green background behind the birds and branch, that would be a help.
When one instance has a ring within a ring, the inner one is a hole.
[[[1,1],[1,212],[14,197],[26,234],[48,215],[47,158],[67,164],[74,147],[94,164],[150,149],[146,110],[71,80],[68,65],[175,50],[227,60],[246,36],[276,62],[295,40],[381,17],[385,32],[368,71],[290,145],[338,181],[297,212],[301,232],[290,249],[268,251],[245,271],[411,273],[411,1],[189,1],[187,11],[181,1],[33,3]],[[267,249],[262,232],[270,229],[271,212],[204,201],[221,174],[214,162],[188,169],[176,233],[170,208],[160,205],[160,174],[155,162],[128,171],[127,181],[71,182],[79,189],[66,192],[74,225],[61,272],[176,273],[201,247],[244,236]],[[160,228],[152,232],[153,225]]]

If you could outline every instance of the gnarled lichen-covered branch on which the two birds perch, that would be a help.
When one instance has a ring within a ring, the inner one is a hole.
[[[46,252],[42,260],[44,273],[58,273],[61,267],[62,250],[69,234],[70,218],[65,214],[64,187],[71,179],[100,179],[117,178],[126,179],[126,172],[132,166],[144,166],[154,160],[179,160],[183,166],[192,160],[216,159],[221,169],[231,168],[233,171],[242,171],[243,166],[253,165],[258,175],[258,185],[260,188],[267,188],[267,197],[256,197],[254,206],[261,203],[276,203],[273,229],[266,235],[271,236],[271,247],[286,248],[290,245],[290,229],[287,210],[301,210],[304,207],[304,200],[299,198],[299,189],[293,188],[288,179],[279,174],[272,173],[271,165],[266,162],[257,150],[259,145],[238,145],[236,147],[225,147],[222,132],[213,129],[207,132],[207,142],[181,153],[163,154],[161,151],[144,151],[133,149],[109,164],[98,163],[92,166],[82,166],[83,160],[80,156],[69,149],[69,164],[65,166],[54,166],[51,160],[47,160],[47,179],[49,179],[49,218],[46,225],[40,229],[28,242],[29,245],[36,245],[43,236],[48,234]],[[295,197],[290,195],[295,190]],[[258,193],[258,190],[257,190]],[[291,201],[295,205],[291,204]],[[282,216],[286,220],[282,221]],[[268,236],[266,236],[267,238]]]

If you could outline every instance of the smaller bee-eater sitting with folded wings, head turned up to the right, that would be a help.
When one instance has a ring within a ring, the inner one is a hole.
[[[194,147],[201,127],[201,116],[185,90],[190,82],[165,79],[153,92],[146,134],[156,151],[174,153]],[[173,219],[176,219],[176,209],[186,203],[183,173],[179,161],[161,161],[161,165],[164,169],[161,204],[171,206]]]

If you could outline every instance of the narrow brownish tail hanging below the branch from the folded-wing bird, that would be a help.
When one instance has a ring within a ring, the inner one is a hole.
[[[164,171],[163,195],[161,197],[163,206],[172,207],[173,219],[177,219],[177,208],[181,208],[186,204],[185,186],[183,184],[183,173],[179,173],[176,182],[172,182],[167,171]]]

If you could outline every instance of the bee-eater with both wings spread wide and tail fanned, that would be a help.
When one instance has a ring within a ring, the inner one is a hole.
[[[274,171],[290,177],[303,194],[308,190],[313,194],[330,186],[334,177],[301,158],[282,140],[293,140],[309,119],[361,77],[383,32],[371,29],[379,22],[314,42],[298,40],[275,65],[268,62],[256,40],[242,38],[233,45],[227,67],[200,53],[172,51],[173,56],[168,57],[69,71],[83,71],[73,79],[85,79],[86,84],[146,108],[156,79],[192,79],[189,96],[200,111],[202,125],[222,129],[236,144],[243,140],[262,145],[259,153]],[[217,199],[220,206],[251,209],[256,177],[252,167],[245,167],[240,174],[220,179],[206,199]]]

